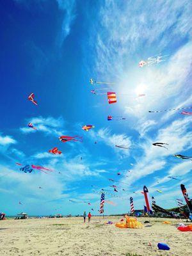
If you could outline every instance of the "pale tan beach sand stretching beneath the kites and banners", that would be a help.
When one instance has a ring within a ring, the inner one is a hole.
[[[117,256],[129,252],[187,256],[192,253],[192,232],[179,232],[175,227],[181,220],[138,218],[141,223],[150,221],[142,229],[104,225],[120,220],[121,217],[106,216],[92,217],[91,223],[83,223],[80,217],[0,221],[0,255]],[[163,225],[164,220],[172,224]],[[157,243],[166,243],[171,250],[157,250]]]

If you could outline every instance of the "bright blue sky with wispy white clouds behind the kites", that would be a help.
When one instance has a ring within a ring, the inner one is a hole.
[[[191,8],[189,1],[1,1],[0,211],[81,214],[93,208],[97,214],[96,192],[113,184],[119,197],[106,195],[116,203],[105,205],[106,214],[130,211],[130,196],[142,209],[144,185],[162,207],[182,198],[181,182],[192,194],[191,161],[172,156],[192,154],[191,116],[148,113],[191,106]],[[168,57],[138,67],[156,54]],[[116,104],[90,93],[104,88],[92,86],[91,77],[115,83],[109,88]],[[38,106],[28,101],[31,92]],[[108,115],[126,120],[108,122]],[[95,128],[85,132],[84,124]],[[83,136],[83,143],[61,143],[61,135]],[[62,154],[49,154],[53,147]],[[54,172],[23,173],[18,162]]]

